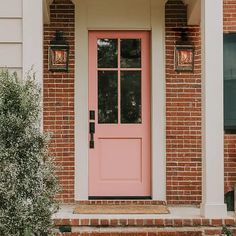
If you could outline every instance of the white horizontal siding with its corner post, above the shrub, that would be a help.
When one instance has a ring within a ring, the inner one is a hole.
[[[43,77],[43,0],[0,0],[0,70]]]

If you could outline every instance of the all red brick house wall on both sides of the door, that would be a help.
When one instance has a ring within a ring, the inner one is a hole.
[[[200,28],[188,27],[195,45],[194,73],[174,70],[178,27],[186,26],[181,0],[166,4],[166,153],[167,200],[170,204],[201,202],[201,59]],[[70,44],[69,73],[48,71],[48,45],[55,31]],[[236,0],[224,1],[224,31],[236,32]],[[58,176],[64,202],[74,199],[74,5],[54,0],[51,23],[44,26],[44,129],[52,133],[51,152],[61,166]],[[225,191],[236,182],[236,135],[225,135]]]

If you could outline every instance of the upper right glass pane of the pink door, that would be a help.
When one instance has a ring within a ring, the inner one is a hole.
[[[141,39],[121,39],[121,68],[141,68]]]

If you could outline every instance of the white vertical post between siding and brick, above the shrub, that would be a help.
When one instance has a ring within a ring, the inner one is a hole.
[[[43,80],[43,1],[23,0],[23,76],[32,68]]]

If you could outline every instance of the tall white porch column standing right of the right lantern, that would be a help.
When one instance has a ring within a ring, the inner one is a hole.
[[[227,215],[224,204],[223,0],[201,0],[202,204],[210,218]]]

